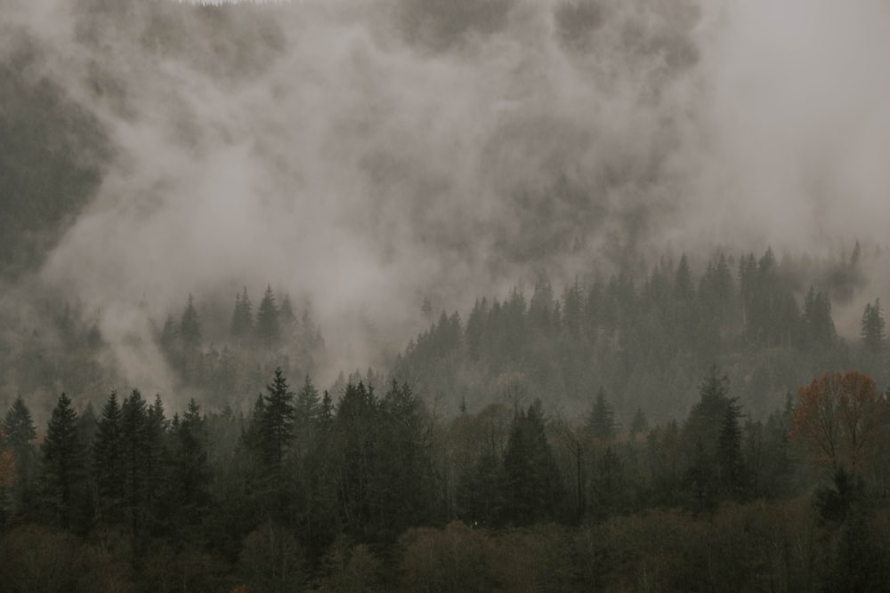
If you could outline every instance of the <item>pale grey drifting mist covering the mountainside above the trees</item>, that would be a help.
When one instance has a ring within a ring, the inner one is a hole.
[[[629,246],[886,244],[886,0],[0,10],[42,48],[29,76],[109,134],[41,276],[101,309],[134,381],[160,359],[126,340],[143,297],[166,317],[271,283],[348,369],[400,349],[425,296],[463,309]]]

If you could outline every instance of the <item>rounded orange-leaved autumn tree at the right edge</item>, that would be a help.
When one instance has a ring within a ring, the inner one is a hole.
[[[789,437],[813,451],[813,461],[862,472],[887,442],[890,404],[858,371],[824,373],[797,391]]]

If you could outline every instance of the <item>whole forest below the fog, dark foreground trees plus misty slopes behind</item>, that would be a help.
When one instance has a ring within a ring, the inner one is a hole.
[[[834,281],[800,305],[806,268],[771,250],[560,298],[539,282],[465,323],[426,301],[391,370],[321,390],[308,310],[271,286],[255,312],[247,288],[225,314],[190,296],[156,332],[198,394],[182,409],[62,393],[38,426],[9,405],[0,574],[12,591],[883,590],[883,309],[851,341],[831,315],[860,250],[811,266]],[[102,348],[72,310],[55,381]]]

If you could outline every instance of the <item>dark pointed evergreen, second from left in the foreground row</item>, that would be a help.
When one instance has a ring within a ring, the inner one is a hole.
[[[68,529],[77,486],[84,478],[84,452],[77,435],[77,413],[64,393],[53,408],[41,450],[44,457],[44,493],[58,524]]]

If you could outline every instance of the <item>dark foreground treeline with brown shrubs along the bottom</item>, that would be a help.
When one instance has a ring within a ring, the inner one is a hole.
[[[825,373],[767,421],[716,367],[683,422],[600,391],[438,416],[277,370],[250,413],[62,394],[0,447],[4,590],[879,590],[890,404]],[[827,423],[826,423],[827,422]],[[39,550],[39,551],[36,551]],[[868,570],[865,570],[865,568]]]

